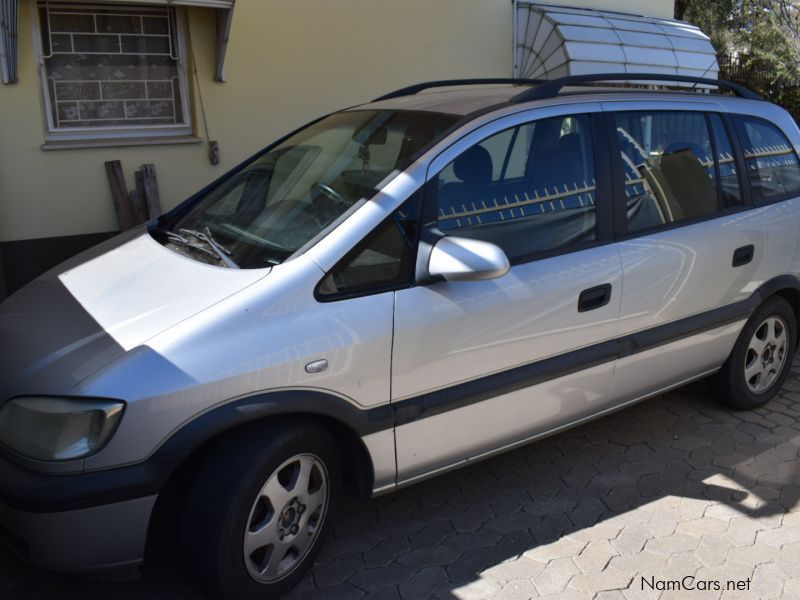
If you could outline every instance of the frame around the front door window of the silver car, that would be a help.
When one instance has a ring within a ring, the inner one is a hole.
[[[425,225],[430,222],[438,220],[436,214],[436,193],[438,191],[438,178],[439,174],[458,156],[460,156],[467,149],[476,146],[483,141],[498,135],[508,129],[524,127],[526,124],[534,123],[536,121],[543,121],[554,117],[569,117],[585,115],[589,120],[589,127],[591,129],[592,152],[595,168],[595,239],[588,242],[580,242],[568,244],[566,246],[559,246],[552,250],[531,252],[514,258],[509,257],[511,267],[517,265],[527,264],[538,260],[552,258],[554,256],[561,256],[564,254],[571,254],[573,252],[580,252],[613,243],[613,194],[611,186],[610,173],[610,159],[607,152],[603,152],[602,148],[607,148],[607,132],[605,124],[603,123],[603,111],[600,103],[574,103],[562,106],[549,106],[538,109],[526,110],[520,113],[509,115],[508,117],[499,118],[488,124],[473,130],[465,135],[460,140],[454,142],[446,149],[443,149],[435,158],[433,158],[428,165],[428,172],[425,177],[425,194],[422,199],[422,217],[420,219],[420,228],[424,229]],[[504,174],[506,165],[503,165],[501,173]],[[427,258],[430,254],[430,249],[436,243],[436,239],[431,239],[421,233],[423,241],[426,242],[427,252],[419,252],[417,257],[417,272],[416,283],[428,284],[432,283],[429,277],[424,273],[424,267],[427,265]],[[457,237],[457,236],[453,236]]]

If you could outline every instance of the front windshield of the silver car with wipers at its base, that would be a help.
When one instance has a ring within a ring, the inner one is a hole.
[[[457,120],[421,111],[335,113],[253,160],[154,235],[219,266],[280,264]]]

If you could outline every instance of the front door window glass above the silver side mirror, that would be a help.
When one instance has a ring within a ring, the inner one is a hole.
[[[497,244],[513,261],[596,239],[586,115],[506,129],[448,164],[427,199],[445,235]]]

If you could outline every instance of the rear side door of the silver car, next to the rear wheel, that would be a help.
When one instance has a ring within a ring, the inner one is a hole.
[[[780,208],[753,206],[734,121],[720,106],[605,107],[617,146],[622,403],[725,361],[747,317],[736,303],[788,269],[796,223],[781,223]]]

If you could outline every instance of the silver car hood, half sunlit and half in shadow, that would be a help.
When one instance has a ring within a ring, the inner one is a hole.
[[[64,394],[269,269],[196,262],[140,229],[63,263],[0,304],[0,404]]]

